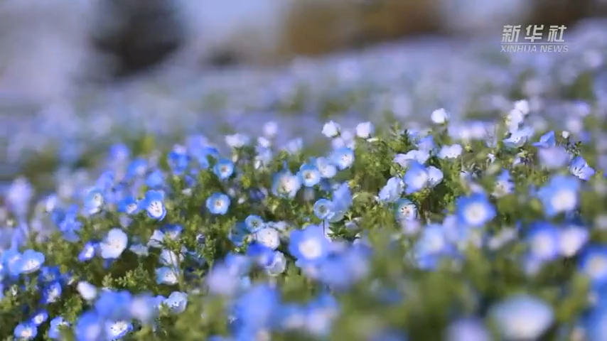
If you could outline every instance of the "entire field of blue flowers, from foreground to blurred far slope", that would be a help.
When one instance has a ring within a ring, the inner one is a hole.
[[[7,118],[1,340],[607,340],[605,32]]]

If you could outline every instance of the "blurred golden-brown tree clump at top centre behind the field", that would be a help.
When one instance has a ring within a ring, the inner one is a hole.
[[[436,1],[297,1],[285,18],[279,52],[321,55],[436,31]]]

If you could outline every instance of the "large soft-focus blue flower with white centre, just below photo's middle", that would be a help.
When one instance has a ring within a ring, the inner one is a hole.
[[[291,231],[289,252],[298,261],[320,261],[331,250],[331,241],[325,236],[323,227],[308,225],[303,229]]]

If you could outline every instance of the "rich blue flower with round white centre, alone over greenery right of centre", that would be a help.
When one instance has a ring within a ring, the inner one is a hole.
[[[493,220],[496,215],[495,207],[491,205],[483,193],[473,193],[467,197],[458,197],[456,212],[461,224],[469,227],[482,227]]]

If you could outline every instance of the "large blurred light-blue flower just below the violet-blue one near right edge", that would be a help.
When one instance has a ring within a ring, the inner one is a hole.
[[[547,217],[571,212],[578,205],[579,180],[570,176],[554,175],[547,185],[537,191]]]

